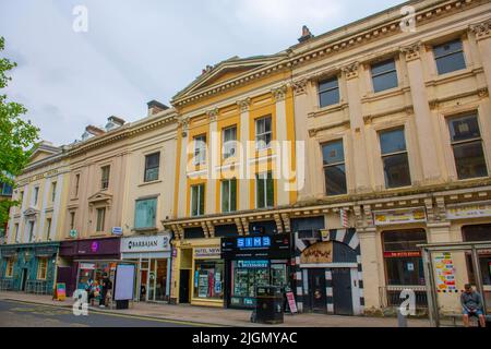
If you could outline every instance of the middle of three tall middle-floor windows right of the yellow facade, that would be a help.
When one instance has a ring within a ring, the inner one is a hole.
[[[398,188],[411,184],[404,129],[380,133],[385,185]]]

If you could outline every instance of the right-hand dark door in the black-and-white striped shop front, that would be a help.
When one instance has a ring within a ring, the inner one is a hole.
[[[351,270],[332,268],[333,303],[336,315],[352,315]]]

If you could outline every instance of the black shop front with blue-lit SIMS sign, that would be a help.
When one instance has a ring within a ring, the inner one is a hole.
[[[290,236],[252,234],[221,239],[226,306],[252,309],[258,286],[289,286]]]

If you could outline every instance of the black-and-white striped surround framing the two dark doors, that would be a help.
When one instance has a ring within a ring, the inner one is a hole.
[[[301,265],[300,255],[309,246],[318,242],[333,241],[345,244],[347,248],[356,253],[356,263],[346,263],[343,261],[333,260],[328,265]],[[309,281],[308,273],[310,268],[325,269],[325,285],[326,285],[326,312],[327,314],[335,313],[334,298],[333,298],[333,268],[350,268],[352,280],[352,310],[354,314],[362,314],[364,311],[363,298],[363,275],[361,268],[361,250],[360,241],[356,229],[333,229],[324,238],[319,237],[316,240],[299,239],[298,232],[295,232],[295,286],[297,308],[299,312],[304,310],[304,303],[309,303]]]

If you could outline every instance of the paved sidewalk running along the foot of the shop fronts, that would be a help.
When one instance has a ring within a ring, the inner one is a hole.
[[[22,292],[0,292],[2,300],[15,300],[33,302],[45,305],[71,308],[72,299],[63,302],[55,301],[50,296],[26,294]],[[397,327],[397,318],[394,317],[367,317],[367,316],[337,316],[323,314],[285,314],[285,323],[282,325],[261,325],[250,323],[251,311],[233,309],[215,309],[191,305],[169,305],[156,303],[130,303],[128,310],[110,310],[91,308],[89,312],[116,313],[130,316],[166,318],[182,322],[196,322],[214,324],[218,326],[243,327]],[[428,327],[427,320],[409,320],[409,327]]]

